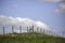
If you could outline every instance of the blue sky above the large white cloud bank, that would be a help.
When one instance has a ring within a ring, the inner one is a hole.
[[[56,32],[65,32],[64,0],[0,0],[0,16],[39,20]]]

